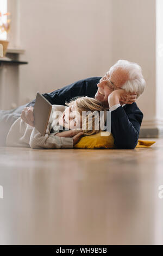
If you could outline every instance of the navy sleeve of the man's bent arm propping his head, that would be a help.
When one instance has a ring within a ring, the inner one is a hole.
[[[111,132],[117,148],[134,149],[137,145],[143,114],[134,106],[128,114],[122,106],[111,112]]]

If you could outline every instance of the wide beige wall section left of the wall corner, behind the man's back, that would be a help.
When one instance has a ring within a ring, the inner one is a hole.
[[[20,0],[20,104],[111,65],[111,0]]]

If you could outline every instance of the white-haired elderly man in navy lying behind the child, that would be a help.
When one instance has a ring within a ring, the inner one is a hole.
[[[119,60],[103,77],[80,80],[43,96],[55,105],[65,105],[66,101],[75,96],[95,97],[111,111],[111,133],[117,148],[134,149],[143,118],[135,100],[144,88],[145,80],[140,66]],[[22,119],[32,126],[34,102],[30,102],[21,113]]]

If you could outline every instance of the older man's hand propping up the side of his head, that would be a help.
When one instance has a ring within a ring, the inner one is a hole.
[[[123,89],[114,90],[108,96],[109,107],[112,107],[118,103],[123,104],[132,104],[136,101],[136,93],[127,93]]]

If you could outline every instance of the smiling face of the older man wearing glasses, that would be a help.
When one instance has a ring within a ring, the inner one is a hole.
[[[127,70],[117,68],[109,75],[109,71],[99,80],[98,90],[95,99],[103,102],[104,107],[109,107],[108,96],[114,90],[122,89],[123,84],[128,80]]]

